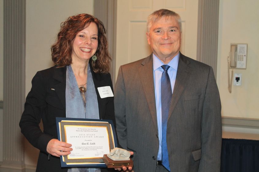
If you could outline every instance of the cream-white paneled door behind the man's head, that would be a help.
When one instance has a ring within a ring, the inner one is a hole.
[[[181,53],[196,59],[198,0],[118,0],[116,77],[120,65],[151,54],[146,38],[147,16],[162,8],[181,16]]]

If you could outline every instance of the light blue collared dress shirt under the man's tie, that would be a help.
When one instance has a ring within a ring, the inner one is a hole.
[[[179,61],[178,53],[173,59],[167,64],[170,66],[168,69],[168,75],[171,82],[172,93],[175,84],[176,73]],[[159,149],[157,160],[162,159],[162,112],[161,112],[161,77],[164,69],[161,67],[164,63],[153,53],[153,72],[154,72],[154,87],[155,87],[155,99],[156,99],[156,110],[157,110],[157,124],[158,124],[158,138],[159,138]],[[172,97],[173,98],[173,97]]]

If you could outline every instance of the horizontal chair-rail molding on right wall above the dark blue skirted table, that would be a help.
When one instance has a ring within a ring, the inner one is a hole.
[[[222,126],[259,129],[259,119],[222,117]]]

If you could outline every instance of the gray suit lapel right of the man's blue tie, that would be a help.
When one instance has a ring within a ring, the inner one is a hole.
[[[177,102],[179,101],[181,94],[183,93],[186,83],[189,80],[192,69],[188,66],[188,64],[189,64],[189,61],[185,58],[184,55],[182,55],[180,53],[180,58],[179,58],[178,68],[177,68],[177,75],[176,75],[175,85],[174,85],[174,89],[173,89],[171,105],[169,108],[168,119],[172,115],[173,110],[174,110]]]

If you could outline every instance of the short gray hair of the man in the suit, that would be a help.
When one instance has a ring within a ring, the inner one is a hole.
[[[147,17],[147,32],[150,31],[150,27],[152,26],[153,23],[155,23],[157,20],[161,19],[164,16],[166,17],[173,16],[178,21],[178,24],[180,26],[180,31],[182,32],[181,17],[179,16],[179,14],[168,9],[159,9],[157,11],[154,11],[152,14],[150,14]]]

